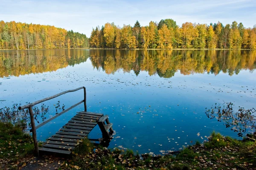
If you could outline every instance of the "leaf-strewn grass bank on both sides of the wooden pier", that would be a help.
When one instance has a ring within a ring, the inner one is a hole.
[[[0,122],[0,169],[20,169],[33,158],[32,137],[10,123]],[[88,139],[79,141],[61,169],[90,170],[187,170],[187,169],[248,169],[256,167],[256,142],[236,140],[212,132],[208,142],[189,146],[176,155],[139,155],[133,150],[96,147]]]

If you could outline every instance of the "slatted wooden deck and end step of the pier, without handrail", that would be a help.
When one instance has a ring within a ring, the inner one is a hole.
[[[47,139],[42,147],[39,147],[39,151],[69,155],[76,148],[77,142],[86,138],[96,125],[99,125],[103,139],[112,138],[113,128],[108,115],[81,111]]]

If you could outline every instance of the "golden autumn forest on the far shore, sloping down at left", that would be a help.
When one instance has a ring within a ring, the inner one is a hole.
[[[55,26],[0,21],[0,49],[88,48],[85,34]]]

